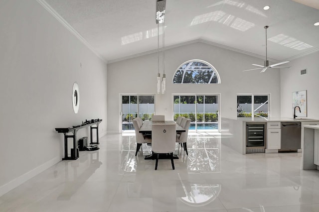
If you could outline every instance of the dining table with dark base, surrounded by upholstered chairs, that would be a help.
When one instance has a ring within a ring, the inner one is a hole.
[[[139,132],[147,135],[152,135],[152,124],[153,123],[160,123],[160,124],[167,124],[167,123],[176,123],[175,121],[172,120],[167,120],[167,121],[144,121]],[[186,130],[181,127],[179,124],[176,123],[176,133],[177,132],[186,132]],[[173,155],[174,159],[178,159],[177,155]],[[145,156],[145,160],[154,160],[156,159],[156,154],[153,153],[151,155]],[[160,154],[159,159],[170,159],[169,154]]]

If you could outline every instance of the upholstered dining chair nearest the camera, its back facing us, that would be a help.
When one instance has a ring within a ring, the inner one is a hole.
[[[174,170],[173,152],[175,151],[176,123],[152,124],[152,151],[156,153],[155,170],[158,169],[160,154],[170,154]]]

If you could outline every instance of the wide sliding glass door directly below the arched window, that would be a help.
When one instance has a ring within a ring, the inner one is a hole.
[[[174,95],[173,104],[174,120],[190,118],[190,130],[219,131],[219,95]]]

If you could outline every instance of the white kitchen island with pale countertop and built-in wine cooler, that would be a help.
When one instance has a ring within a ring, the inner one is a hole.
[[[302,151],[304,146],[304,126],[305,125],[319,125],[319,119],[310,119],[310,118],[289,118],[289,117],[238,117],[238,118],[221,118],[221,142],[235,151],[246,154],[246,123],[255,123],[255,124],[266,124],[266,128],[270,129],[270,125],[278,125],[281,122],[301,122],[301,149]],[[268,127],[267,127],[268,126]],[[276,127],[274,127],[276,128]],[[273,129],[280,132],[280,128]],[[277,135],[277,139],[280,133]],[[270,136],[269,136],[270,137]],[[266,153],[275,153],[278,152],[278,147],[272,146],[272,148],[267,148],[267,135],[265,136],[265,152]],[[279,136],[280,139],[280,136]],[[277,143],[280,142],[276,141]],[[271,143],[271,142],[269,142]]]

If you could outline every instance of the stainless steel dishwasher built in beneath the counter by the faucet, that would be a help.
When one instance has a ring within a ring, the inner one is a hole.
[[[280,152],[298,151],[301,148],[301,122],[281,122]]]

